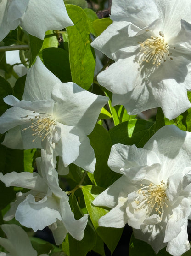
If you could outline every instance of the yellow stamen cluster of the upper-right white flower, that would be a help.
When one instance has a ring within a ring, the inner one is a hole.
[[[166,56],[170,56],[169,45],[164,40],[163,32],[159,32],[160,37],[151,36],[144,42],[140,43],[140,57],[142,62],[150,63],[157,67],[161,65],[162,61],[166,61]],[[170,60],[173,60],[170,57]]]

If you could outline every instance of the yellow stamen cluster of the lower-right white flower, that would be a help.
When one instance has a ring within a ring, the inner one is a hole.
[[[150,183],[148,186],[140,185],[142,188],[140,188],[137,192],[139,195],[142,195],[143,198],[138,198],[135,200],[136,204],[140,204],[143,207],[145,204],[149,206],[149,208],[154,208],[155,212],[158,214],[163,214],[163,206],[165,205],[168,207],[166,200],[166,187],[165,182],[161,180],[160,185],[155,185]],[[140,203],[141,202],[141,203]]]

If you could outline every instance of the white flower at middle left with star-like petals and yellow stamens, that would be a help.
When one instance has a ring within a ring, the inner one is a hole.
[[[61,81],[38,58],[28,70],[19,101],[12,95],[4,101],[13,106],[0,117],[4,145],[13,149],[54,147],[64,166],[75,163],[93,172],[94,150],[86,135],[96,125],[107,97],[90,93],[77,84]]]

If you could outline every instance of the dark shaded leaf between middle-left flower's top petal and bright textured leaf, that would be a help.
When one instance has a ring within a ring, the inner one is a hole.
[[[42,50],[45,66],[63,83],[72,81],[68,52],[61,48],[45,48]]]

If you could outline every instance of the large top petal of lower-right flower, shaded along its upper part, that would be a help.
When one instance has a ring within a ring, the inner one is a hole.
[[[158,130],[145,144],[145,149],[154,151],[162,163],[161,178],[182,173],[191,166],[191,134],[175,125],[166,125]]]

